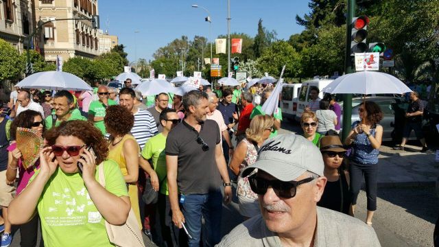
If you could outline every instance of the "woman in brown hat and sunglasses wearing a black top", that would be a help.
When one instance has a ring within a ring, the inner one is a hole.
[[[320,139],[320,152],[324,163],[323,174],[328,181],[317,205],[349,214],[352,200],[349,192],[349,173],[346,171],[344,160],[346,149],[338,136],[329,135]]]

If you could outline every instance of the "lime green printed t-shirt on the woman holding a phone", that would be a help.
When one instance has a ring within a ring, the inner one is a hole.
[[[118,197],[128,196],[119,165],[110,160],[101,165],[104,165],[106,190]],[[98,174],[96,171],[99,182]],[[47,181],[37,209],[45,246],[113,246],[108,240],[105,221],[79,173],[64,174],[58,167]]]

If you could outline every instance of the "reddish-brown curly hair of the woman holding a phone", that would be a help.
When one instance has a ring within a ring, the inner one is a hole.
[[[83,120],[63,121],[60,126],[51,128],[45,133],[45,139],[49,145],[54,145],[58,137],[73,136],[84,141],[87,146],[95,151],[96,163],[100,164],[108,156],[108,143],[101,130],[91,122]]]

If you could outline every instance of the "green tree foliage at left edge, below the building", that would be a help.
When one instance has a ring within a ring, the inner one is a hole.
[[[0,39],[0,81],[17,79],[21,72],[19,51]]]

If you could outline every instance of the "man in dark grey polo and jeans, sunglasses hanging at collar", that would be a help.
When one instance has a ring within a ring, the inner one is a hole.
[[[182,102],[186,118],[166,139],[166,167],[172,221],[189,232],[189,246],[199,246],[202,233],[208,246],[221,240],[221,178],[224,202],[232,199],[227,165],[222,155],[218,124],[206,119],[209,101],[206,93],[190,91]],[[178,196],[180,191],[180,198]],[[180,202],[180,204],[179,204]],[[181,209],[180,209],[181,207]]]

